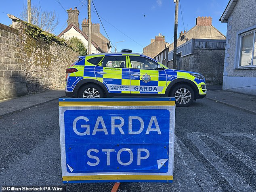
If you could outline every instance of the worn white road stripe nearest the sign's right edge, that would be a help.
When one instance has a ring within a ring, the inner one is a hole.
[[[178,153],[178,157],[175,156],[176,152]],[[188,190],[191,188],[191,184],[193,184],[193,186],[199,185],[200,188],[198,188],[198,190],[200,191],[202,189],[203,191],[222,191],[220,186],[218,186],[218,183],[206,171],[204,165],[197,161],[194,155],[188,150],[188,148],[183,144],[182,141],[180,141],[177,136],[175,136],[174,159],[178,161],[177,164],[180,169],[183,169],[187,174],[185,177],[186,181],[182,184],[184,190]],[[176,167],[174,167],[174,170],[175,168]],[[182,172],[182,170],[179,172]],[[176,184],[175,175],[173,184]],[[185,184],[189,184],[189,186],[185,186]],[[180,190],[180,186],[178,189]]]

